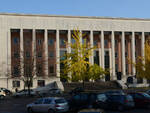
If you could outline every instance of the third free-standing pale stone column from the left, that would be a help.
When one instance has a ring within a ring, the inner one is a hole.
[[[44,30],[44,45],[45,45],[45,75],[48,76],[48,34],[47,34],[47,29]]]

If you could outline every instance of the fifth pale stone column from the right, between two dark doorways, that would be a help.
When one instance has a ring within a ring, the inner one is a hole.
[[[101,31],[101,66],[102,68],[105,68],[104,66],[104,31]]]

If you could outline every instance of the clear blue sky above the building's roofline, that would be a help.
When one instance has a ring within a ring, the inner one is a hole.
[[[150,0],[0,0],[0,13],[150,18]]]

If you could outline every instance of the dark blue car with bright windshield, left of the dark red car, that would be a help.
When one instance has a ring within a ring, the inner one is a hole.
[[[105,93],[102,93],[97,94],[93,107],[123,111],[124,109],[133,108],[134,101],[130,95],[106,95]]]

